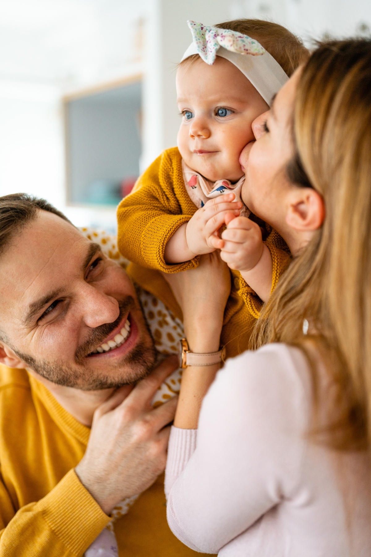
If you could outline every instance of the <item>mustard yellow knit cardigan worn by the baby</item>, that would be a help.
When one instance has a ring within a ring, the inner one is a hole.
[[[166,265],[164,250],[177,228],[197,211],[186,192],[181,155],[166,149],[137,180],[133,192],[117,209],[118,249],[131,264],[128,275],[158,297],[182,319],[181,309],[164,277],[158,271],[179,272],[196,267],[199,257],[177,265]],[[279,234],[266,226],[266,240],[273,259],[272,290],[290,261],[289,249]],[[232,288],[224,314],[221,344],[227,357],[248,348],[251,328],[263,302],[238,271],[232,271]]]

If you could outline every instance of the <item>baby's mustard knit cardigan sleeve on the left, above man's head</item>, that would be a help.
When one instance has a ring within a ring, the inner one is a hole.
[[[192,211],[190,199],[183,203],[182,210],[175,182],[179,189],[184,187],[181,158],[177,150],[168,149],[138,178],[133,192],[122,199],[117,209],[117,244],[129,261],[169,273],[197,267],[199,256],[175,265],[167,265],[164,259],[166,243],[196,210],[194,207]]]

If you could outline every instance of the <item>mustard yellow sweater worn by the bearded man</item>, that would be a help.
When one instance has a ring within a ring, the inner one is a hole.
[[[79,557],[110,521],[73,471],[89,434],[26,370],[0,365],[0,555]],[[167,526],[163,477],[115,534],[120,557],[200,555]]]

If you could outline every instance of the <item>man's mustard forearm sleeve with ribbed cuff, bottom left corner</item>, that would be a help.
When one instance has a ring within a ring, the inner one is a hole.
[[[0,481],[0,555],[76,557],[84,553],[109,521],[110,517],[73,470],[43,499],[22,507],[15,514],[6,487]]]

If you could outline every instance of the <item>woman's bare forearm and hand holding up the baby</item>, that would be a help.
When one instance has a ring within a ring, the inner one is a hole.
[[[200,257],[195,269],[164,275],[184,315],[184,333],[191,352],[204,354],[219,350],[224,309],[230,293],[230,272],[219,253]],[[174,426],[196,429],[202,399],[220,364],[189,366],[182,374]]]

